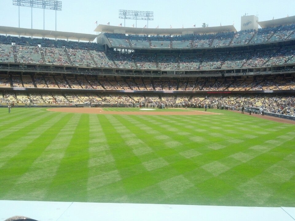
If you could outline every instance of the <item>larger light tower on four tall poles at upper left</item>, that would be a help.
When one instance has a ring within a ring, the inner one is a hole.
[[[43,29],[45,29],[45,9],[55,10],[55,30],[56,11],[61,11],[61,1],[57,0],[12,0],[12,4],[18,6],[18,27],[19,27],[19,6],[31,8],[31,29],[33,29],[33,8],[43,9]]]

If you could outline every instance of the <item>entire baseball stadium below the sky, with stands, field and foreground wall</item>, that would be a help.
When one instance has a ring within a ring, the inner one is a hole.
[[[0,220],[295,219],[295,16],[0,26]]]

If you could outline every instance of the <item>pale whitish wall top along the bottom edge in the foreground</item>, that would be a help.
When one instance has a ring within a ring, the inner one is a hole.
[[[0,200],[0,221],[23,215],[38,221],[294,221],[295,207],[228,207]]]

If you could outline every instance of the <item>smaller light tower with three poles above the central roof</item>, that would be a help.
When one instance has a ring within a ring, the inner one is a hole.
[[[154,20],[154,12],[151,11],[132,11],[132,10],[119,10],[119,18],[135,20],[135,27],[137,28],[137,20]],[[148,24],[147,24],[148,25]]]

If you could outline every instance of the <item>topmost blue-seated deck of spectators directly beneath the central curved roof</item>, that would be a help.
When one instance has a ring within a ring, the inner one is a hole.
[[[242,30],[216,34],[125,35],[104,33],[113,47],[134,48],[218,48],[230,45],[259,44],[295,38],[295,25]],[[130,44],[129,44],[130,43]]]

